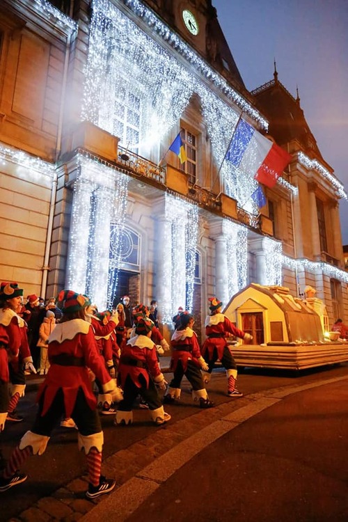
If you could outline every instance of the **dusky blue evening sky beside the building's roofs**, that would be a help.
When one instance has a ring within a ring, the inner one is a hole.
[[[278,79],[348,192],[348,0],[212,0],[248,90]],[[342,243],[348,202],[340,200]]]

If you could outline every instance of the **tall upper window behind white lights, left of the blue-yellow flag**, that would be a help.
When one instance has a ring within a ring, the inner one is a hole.
[[[120,138],[121,147],[137,154],[141,125],[140,98],[124,86],[118,86],[113,109],[113,134]]]

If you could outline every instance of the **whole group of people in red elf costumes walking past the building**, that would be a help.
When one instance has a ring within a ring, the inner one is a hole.
[[[139,400],[152,422],[163,425],[171,420],[164,404],[180,400],[184,375],[191,383],[193,401],[200,408],[211,408],[214,402],[206,386],[217,359],[226,368],[227,395],[243,395],[236,386],[237,365],[226,338],[235,335],[248,342],[252,337],[221,313],[223,303],[216,297],[209,299],[202,347],[193,330],[193,315],[181,309],[173,317],[173,379],[168,385],[159,356],[170,347],[158,327],[155,300],[150,307],[131,307],[129,296],[123,296],[115,309],[99,313],[88,296],[72,290],[62,290],[46,306],[33,294],[23,305],[23,293],[17,283],[1,283],[0,436],[7,421],[22,420],[15,408],[24,395],[26,374],[38,368],[45,379],[31,430],[3,462],[0,492],[26,480],[20,472],[24,461],[45,452],[52,430],[60,423],[77,429],[79,450],[86,454],[86,496],[109,493],[115,481],[101,474],[100,414],[113,414],[115,425],[131,425]]]

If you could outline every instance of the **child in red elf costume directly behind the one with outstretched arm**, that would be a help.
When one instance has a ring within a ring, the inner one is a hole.
[[[184,312],[177,321],[177,329],[171,338],[172,358],[171,370],[174,377],[168,386],[164,403],[171,404],[180,399],[181,381],[184,375],[192,386],[192,398],[198,400],[200,408],[212,408],[214,402],[210,401],[203,383],[202,370],[208,370],[208,365],[200,355],[200,347],[197,335],[193,331],[193,315]]]

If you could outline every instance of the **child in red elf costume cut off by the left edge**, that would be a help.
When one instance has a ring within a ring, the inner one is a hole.
[[[33,358],[26,335],[26,322],[17,315],[22,302],[23,290],[17,283],[1,283],[0,285],[0,324],[8,335],[8,351],[10,361],[8,372],[10,381],[10,402],[7,420],[20,422],[23,420],[15,411],[20,397],[24,396],[26,387],[24,371],[36,373]]]

